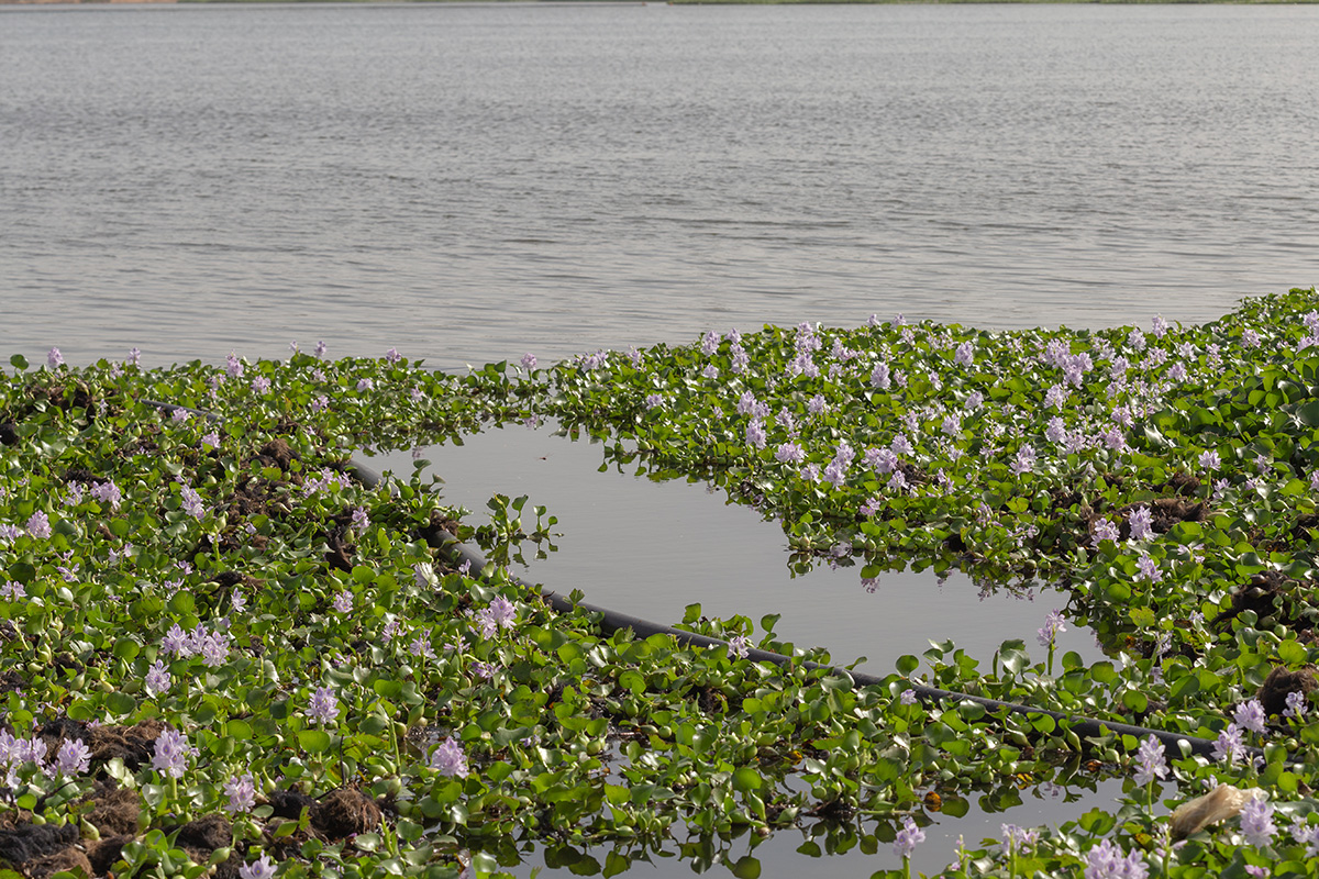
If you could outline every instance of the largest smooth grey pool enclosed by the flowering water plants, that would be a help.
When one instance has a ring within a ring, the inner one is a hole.
[[[757,626],[761,617],[781,614],[774,626],[780,639],[824,647],[839,664],[867,656],[861,668],[877,675],[892,671],[904,654],[921,655],[931,640],[951,639],[988,664],[1004,640],[1020,638],[1042,660],[1035,631],[1050,610],[1067,604],[1049,588],[1029,596],[985,594],[958,571],[946,577],[885,573],[873,592],[863,585],[859,567],[826,565],[794,577],[776,522],[704,484],[656,482],[616,468],[598,472],[600,444],[568,441],[546,428],[491,430],[464,438],[463,445],[422,453],[431,461],[423,481],[430,473],[443,478],[442,496],[474,510],[474,526],[487,521],[485,501],[496,492],[529,497],[526,526],[534,526],[532,506],[558,517],[558,551],[529,557],[518,572],[525,580],[563,594],[582,589],[590,604],[665,625],[681,622],[691,604],[707,615],[743,614]],[[367,464],[402,477],[413,469],[409,452]],[[1087,662],[1101,655],[1093,635],[1072,625],[1057,644]]]

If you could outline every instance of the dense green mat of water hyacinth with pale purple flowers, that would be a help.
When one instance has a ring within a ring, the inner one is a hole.
[[[15,356],[0,868],[487,875],[537,850],[616,875],[677,849],[741,876],[760,865],[731,839],[802,833],[806,853],[860,849],[901,875],[931,810],[1130,774],[1111,809],[1005,825],[946,875],[1314,872],[1316,307],[1293,290],[1204,327],[766,327],[468,376],[396,352],[164,370]],[[493,498],[463,522],[418,476],[350,476],[368,444],[539,418],[604,439],[605,465],[757,506],[798,569],[1062,584],[1070,605],[1029,647],[1004,633],[983,668],[929,633],[919,677],[1217,739],[1217,759],[921,702],[915,656],[871,688],[754,664],[743,647],[794,652],[768,617],[690,609],[720,648],[607,635],[426,540],[506,560],[550,536],[547,511]],[[1109,659],[1055,656],[1066,621]],[[1165,807],[1217,784],[1269,799],[1174,838]]]

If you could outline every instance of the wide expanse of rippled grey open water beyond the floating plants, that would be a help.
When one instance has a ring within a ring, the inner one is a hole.
[[[1319,279],[1314,7],[0,7],[0,349],[441,368]]]

